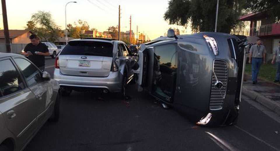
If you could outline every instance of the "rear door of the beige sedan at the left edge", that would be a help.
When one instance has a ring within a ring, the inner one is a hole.
[[[22,146],[36,132],[36,96],[28,89],[11,57],[1,58],[0,64],[0,112],[17,146]]]

